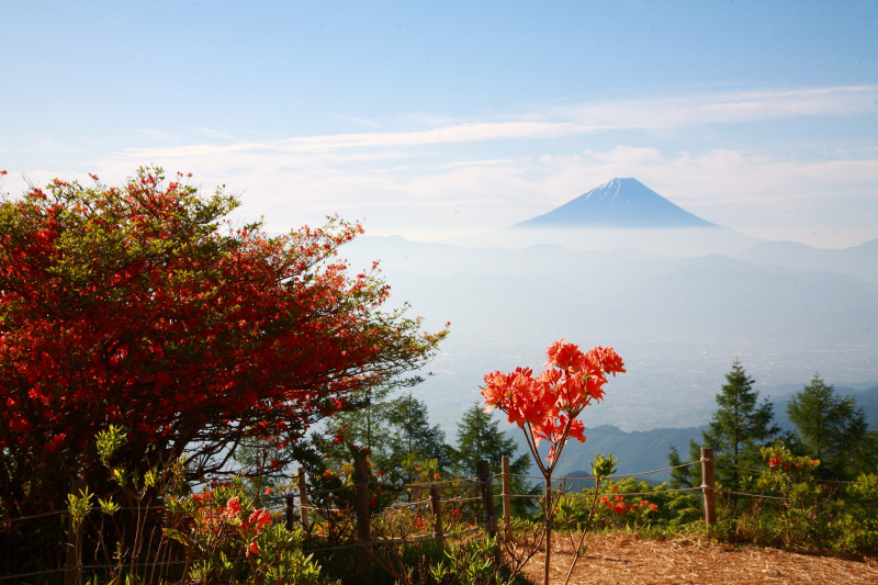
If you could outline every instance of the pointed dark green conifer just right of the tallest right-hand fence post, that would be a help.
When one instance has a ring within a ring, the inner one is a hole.
[[[718,408],[709,430],[702,432],[706,447],[713,449],[717,460],[717,481],[733,492],[739,492],[742,481],[753,473],[740,466],[758,468],[762,463],[759,447],[767,446],[780,432],[773,424],[772,404],[764,400],[757,404],[759,393],[753,390],[754,380],[735,359],[725,374],[725,384],[717,394]]]

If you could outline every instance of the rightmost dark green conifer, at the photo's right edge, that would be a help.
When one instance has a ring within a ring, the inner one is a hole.
[[[853,396],[840,396],[819,374],[792,396],[787,415],[807,453],[820,460],[821,475],[851,479],[875,466],[876,432],[869,431],[863,408]]]

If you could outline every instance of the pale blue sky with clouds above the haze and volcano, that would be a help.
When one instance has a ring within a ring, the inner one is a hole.
[[[773,239],[878,237],[878,1],[0,0],[0,190],[140,165],[271,230],[428,240],[614,177]]]

